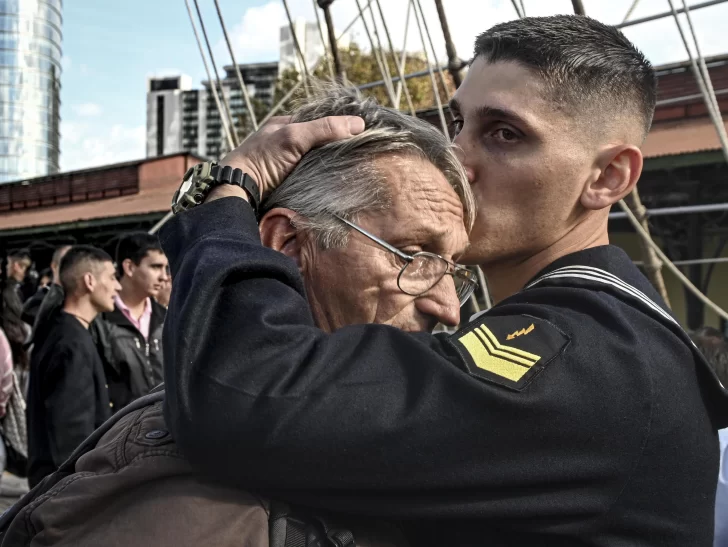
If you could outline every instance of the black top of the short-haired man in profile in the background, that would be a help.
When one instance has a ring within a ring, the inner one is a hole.
[[[88,330],[57,312],[33,351],[28,389],[28,482],[55,471],[111,415],[103,365]]]

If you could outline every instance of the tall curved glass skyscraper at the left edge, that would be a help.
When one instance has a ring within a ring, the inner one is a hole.
[[[0,184],[58,172],[62,0],[0,0]]]

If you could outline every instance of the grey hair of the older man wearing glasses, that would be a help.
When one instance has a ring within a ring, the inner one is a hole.
[[[360,116],[365,130],[307,153],[288,178],[262,204],[298,213],[295,225],[324,249],[346,245],[349,228],[333,215],[354,220],[363,212],[387,209],[393,190],[374,159],[401,155],[425,159],[439,169],[460,198],[465,226],[472,228],[475,199],[463,166],[448,138],[431,124],[362,98],[358,90],[321,85],[293,113],[294,122],[325,116]]]

